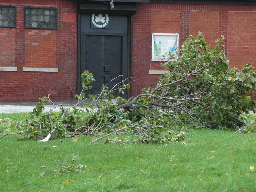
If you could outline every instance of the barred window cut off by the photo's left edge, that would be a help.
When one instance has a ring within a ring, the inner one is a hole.
[[[0,27],[16,27],[16,7],[0,6]]]

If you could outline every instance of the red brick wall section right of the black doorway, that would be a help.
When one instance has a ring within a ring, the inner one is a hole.
[[[192,34],[202,31],[206,42],[224,35],[231,67],[251,62],[256,57],[256,6],[233,5],[137,5],[133,16],[133,96],[144,87],[155,87],[160,62],[151,62],[151,33],[179,33],[179,45]]]

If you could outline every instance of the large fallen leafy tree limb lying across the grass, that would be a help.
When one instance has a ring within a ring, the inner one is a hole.
[[[121,134],[130,133],[132,142],[161,143],[184,140],[190,127],[241,129],[247,125],[243,114],[256,109],[255,101],[247,96],[248,92],[256,91],[256,74],[250,63],[241,70],[229,69],[223,40],[224,37],[217,39],[216,46],[211,48],[202,33],[189,36],[176,50],[178,59],[174,60],[172,53],[166,55],[170,58],[163,63],[166,73],[160,76],[156,87],[144,88],[137,97],[113,98],[116,89],[123,92],[130,87],[124,84],[125,80],[112,89],[103,86],[99,95],[89,95],[93,102],[84,104],[90,108],[84,116],[76,108],[86,99],[84,93],[76,95],[75,106],[61,107],[60,114],[43,113],[44,102],[52,102],[49,96],[43,97],[27,122],[9,131],[22,132],[31,139],[40,139],[48,133],[51,138],[80,134],[98,137],[92,144],[112,134],[121,138]],[[91,89],[93,80],[89,71],[81,75],[85,91]],[[122,138],[118,141],[123,142]]]

